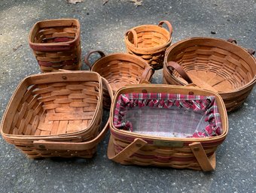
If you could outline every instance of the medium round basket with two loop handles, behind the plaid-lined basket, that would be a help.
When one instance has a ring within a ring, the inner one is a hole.
[[[93,53],[99,53],[100,58],[91,65],[89,59]],[[84,62],[91,71],[99,73],[108,80],[114,93],[128,84],[148,83],[154,74],[154,68],[151,68],[147,62],[127,53],[113,53],[105,56],[102,51],[92,50],[85,56]],[[103,106],[110,108],[111,100],[104,87],[103,96]]]

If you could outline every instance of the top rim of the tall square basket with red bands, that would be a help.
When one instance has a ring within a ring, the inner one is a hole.
[[[76,35],[75,35],[75,38],[74,38],[74,40],[72,40],[72,41],[66,41],[66,42],[58,42],[58,43],[36,43],[36,42],[33,42],[32,41],[32,32],[34,32],[34,30],[35,30],[35,26],[38,26],[38,24],[39,23],[42,23],[42,22],[48,22],[48,21],[51,21],[51,22],[53,22],[53,21],[68,21],[68,20],[73,20],[73,21],[75,21],[75,24],[76,24],[76,26],[78,26],[78,32],[76,33]],[[66,19],[56,19],[56,20],[41,20],[41,21],[38,21],[37,23],[35,23],[33,26],[32,26],[32,29],[30,30],[30,32],[29,32],[29,45],[30,46],[44,46],[44,47],[58,47],[58,46],[69,46],[69,44],[73,44],[73,43],[75,43],[75,41],[78,41],[79,40],[79,37],[80,37],[80,23],[79,23],[79,21],[77,20],[77,19],[75,19],[75,18],[66,18]]]

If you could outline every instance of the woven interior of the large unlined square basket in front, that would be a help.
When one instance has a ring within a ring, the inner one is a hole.
[[[99,82],[66,81],[22,85],[20,100],[4,132],[17,135],[58,135],[87,129],[99,102]],[[20,99],[19,99],[20,98]]]

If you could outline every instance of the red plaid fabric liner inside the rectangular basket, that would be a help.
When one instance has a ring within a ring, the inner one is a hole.
[[[200,128],[195,126],[198,122]],[[175,137],[212,137],[222,133],[214,96],[130,93],[118,97],[114,110],[116,128],[151,134],[156,132],[155,125],[163,126],[157,131],[160,136],[168,132]]]

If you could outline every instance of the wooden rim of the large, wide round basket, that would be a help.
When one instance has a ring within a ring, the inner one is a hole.
[[[169,56],[169,53],[171,52],[171,50],[176,47],[177,45],[179,44],[183,44],[184,42],[187,42],[187,41],[194,41],[194,40],[198,40],[198,39],[205,39],[205,40],[215,40],[215,41],[221,41],[221,42],[225,42],[227,44],[230,44],[230,46],[233,46],[233,47],[238,47],[239,49],[241,49],[245,54],[247,54],[251,59],[254,59],[255,61],[255,67],[256,67],[256,59],[254,58],[254,56],[251,56],[251,54],[249,54],[247,52],[247,50],[245,50],[245,48],[237,45],[237,44],[233,44],[233,43],[230,43],[228,41],[225,41],[221,38],[211,38],[211,37],[193,37],[193,38],[185,38],[181,41],[177,41],[175,42],[175,44],[172,44],[170,47],[167,48],[166,50],[166,54],[164,56],[164,61],[163,61],[163,71],[166,72],[166,74],[168,74],[170,77],[172,77],[176,82],[180,83],[182,86],[185,86],[186,84],[181,82],[181,80],[178,80],[177,77],[175,77],[173,74],[169,73],[169,71],[166,70],[166,64],[167,64],[167,58]],[[236,93],[236,92],[240,92],[242,91],[243,89],[246,89],[248,88],[249,86],[251,85],[254,85],[254,83],[256,83],[256,74],[254,75],[254,77],[251,79],[251,81],[249,81],[248,83],[246,83],[245,85],[243,86],[240,86],[239,89],[235,89],[233,90],[232,92],[218,92],[218,94],[233,94],[233,93]]]

